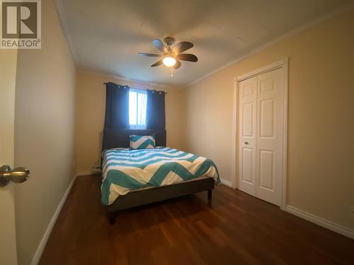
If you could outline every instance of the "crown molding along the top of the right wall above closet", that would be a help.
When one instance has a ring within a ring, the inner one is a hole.
[[[246,54],[241,55],[240,57],[236,57],[232,61],[229,61],[227,64],[219,66],[217,69],[211,71],[210,73],[207,73],[204,76],[201,76],[200,78],[196,79],[195,81],[188,83],[186,86],[183,86],[182,89],[193,86],[195,83],[199,83],[200,81],[204,80],[205,78],[208,78],[209,76],[212,76],[213,74],[215,74],[219,71],[222,71],[223,69],[226,69],[227,67],[231,66],[232,64],[236,64],[239,61],[242,61],[248,57],[251,57],[253,54],[256,54],[257,52],[261,52],[263,49],[273,46],[273,45],[277,44],[278,42],[281,42],[282,40],[286,40],[287,38],[292,37],[292,36],[296,35],[297,33],[301,33],[302,31],[307,30],[308,28],[312,28],[314,25],[317,25],[317,24],[322,23],[326,20],[330,20],[331,18],[339,16],[342,13],[349,11],[351,8],[354,8],[354,4],[347,4],[345,6],[342,6],[341,8],[336,8],[335,10],[333,10],[329,13],[326,13],[324,16],[321,16],[319,18],[311,20],[308,23],[304,23],[303,25],[300,25],[298,28],[295,28],[295,30],[290,30],[290,32],[288,32],[288,33],[280,35],[279,37],[275,37],[275,39],[270,40],[269,42],[266,42],[265,44],[260,45],[254,49],[251,49],[251,51],[246,52]]]

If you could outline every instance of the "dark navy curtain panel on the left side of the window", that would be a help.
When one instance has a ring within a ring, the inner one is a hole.
[[[105,129],[129,129],[129,86],[105,87]]]

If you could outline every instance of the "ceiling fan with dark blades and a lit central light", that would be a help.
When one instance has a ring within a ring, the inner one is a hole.
[[[164,42],[166,42],[167,47],[164,45]],[[173,42],[175,42],[173,37],[165,37],[164,42],[159,39],[152,41],[152,44],[164,54],[148,54],[145,52],[139,52],[139,54],[148,57],[161,57],[159,61],[156,61],[156,63],[152,64],[152,67],[164,64],[168,67],[173,66],[174,69],[178,69],[181,67],[181,61],[179,60],[193,62],[198,61],[198,57],[196,57],[194,54],[182,53],[194,46],[192,42],[179,42],[178,45],[175,45],[175,47],[172,49],[171,45],[173,45]]]

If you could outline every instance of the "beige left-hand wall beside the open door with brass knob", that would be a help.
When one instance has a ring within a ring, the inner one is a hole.
[[[74,177],[75,81],[54,1],[42,1],[42,49],[18,51],[15,164],[31,171],[16,185],[19,264],[30,264]]]

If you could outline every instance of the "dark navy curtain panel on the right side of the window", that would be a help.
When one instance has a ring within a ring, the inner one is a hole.
[[[164,130],[165,126],[165,93],[147,90],[147,129]]]

